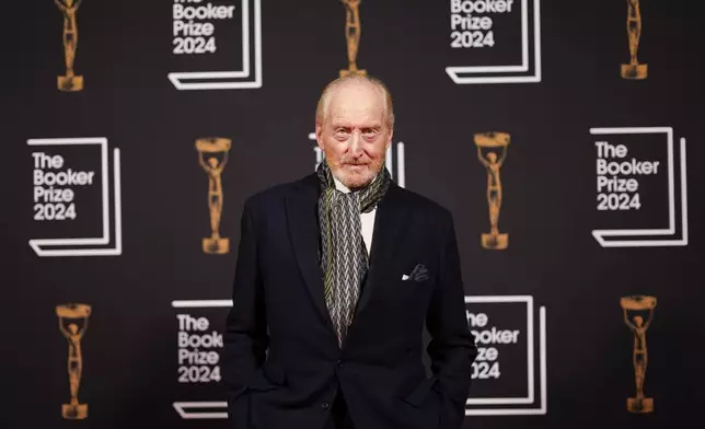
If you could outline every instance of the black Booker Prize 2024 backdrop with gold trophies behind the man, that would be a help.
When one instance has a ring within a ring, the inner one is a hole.
[[[346,73],[389,85],[386,165],[455,220],[463,428],[705,422],[693,2],[5,8],[2,428],[229,427],[242,205],[314,171]]]

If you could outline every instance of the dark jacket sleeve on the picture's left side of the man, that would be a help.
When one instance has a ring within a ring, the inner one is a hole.
[[[241,227],[233,305],[223,335],[223,381],[228,390],[229,417],[245,426],[246,407],[240,396],[246,391],[255,371],[262,367],[269,345],[265,317],[264,287],[257,258],[257,234],[252,204],[245,201]],[[247,396],[247,395],[244,395]],[[243,411],[243,413],[241,413]]]

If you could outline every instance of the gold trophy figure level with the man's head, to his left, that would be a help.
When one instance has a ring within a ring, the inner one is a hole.
[[[232,142],[226,138],[204,138],[196,140],[198,162],[208,174],[208,209],[210,210],[210,237],[204,239],[204,253],[224,254],[230,250],[230,240],[220,236],[220,217],[222,215],[221,175],[228,163],[228,153]],[[222,153],[218,160],[217,153]]]

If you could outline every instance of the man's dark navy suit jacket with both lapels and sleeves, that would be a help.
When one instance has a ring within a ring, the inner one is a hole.
[[[451,213],[391,184],[340,349],[323,297],[317,198],[312,174],[245,201],[224,334],[231,428],[322,428],[338,390],[360,429],[460,428],[476,349]],[[403,280],[417,264],[427,278]]]

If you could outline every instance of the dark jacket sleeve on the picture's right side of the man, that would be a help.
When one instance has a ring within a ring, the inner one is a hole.
[[[471,369],[477,349],[465,317],[465,291],[450,212],[447,212],[447,219],[436,289],[426,316],[431,336],[427,350],[437,380],[435,390],[442,398],[441,428],[458,429],[465,417]]]

